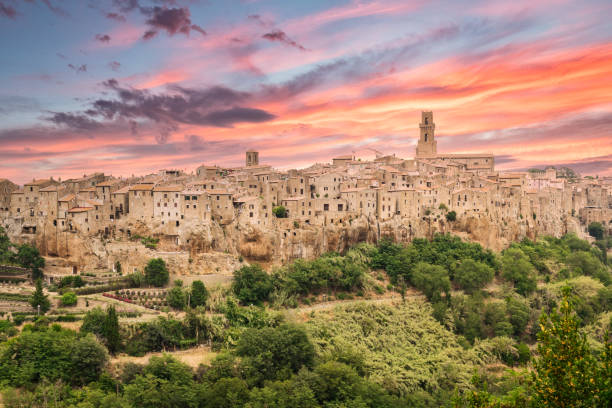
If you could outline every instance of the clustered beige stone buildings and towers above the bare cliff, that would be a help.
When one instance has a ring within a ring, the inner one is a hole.
[[[419,223],[442,226],[446,211],[457,213],[457,224],[486,220],[500,231],[515,225],[518,232],[508,234],[558,233],[572,223],[585,230],[592,221],[612,228],[612,179],[570,181],[554,169],[499,172],[491,154],[440,154],[432,112],[422,113],[415,158],[377,156],[339,156],[331,164],[279,171],[249,151],[244,167],[203,165],[194,174],[163,170],[119,179],[96,173],[21,188],[0,180],[0,221],[12,236],[45,241],[43,251],[54,254],[70,252],[70,237],[138,233],[180,246],[193,244],[194,231],[206,227],[282,231],[283,239],[298,239],[304,226],[324,236],[326,228],[357,219],[376,234],[387,223],[413,236]],[[287,219],[275,217],[279,205]]]

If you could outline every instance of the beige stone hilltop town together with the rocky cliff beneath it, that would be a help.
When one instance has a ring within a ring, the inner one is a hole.
[[[47,264],[58,273],[118,263],[132,271],[153,252],[175,273],[231,271],[243,259],[274,264],[436,232],[501,249],[523,237],[584,235],[593,221],[612,226],[612,179],[496,171],[492,154],[438,154],[432,112],[419,129],[412,159],[377,152],[279,171],[249,150],[243,167],[192,174],[1,180],[1,225],[56,259]]]

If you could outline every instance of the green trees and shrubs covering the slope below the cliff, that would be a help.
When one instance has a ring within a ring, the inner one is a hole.
[[[573,235],[524,240],[502,253],[450,235],[383,241],[270,272],[245,265],[226,289],[175,282],[168,296],[179,315],[127,323],[113,307],[95,308],[79,331],[45,316],[21,330],[19,321],[3,320],[3,401],[607,407],[612,275],[605,249]],[[322,307],[330,301],[338,304]],[[109,364],[109,354],[192,347],[218,354],[196,370],[171,354],[145,365]]]

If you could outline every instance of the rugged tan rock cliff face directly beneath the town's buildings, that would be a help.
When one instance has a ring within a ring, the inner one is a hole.
[[[142,271],[150,258],[161,257],[171,272],[178,275],[231,274],[240,267],[241,260],[271,267],[297,258],[312,259],[328,251],[341,252],[360,242],[375,243],[382,238],[409,242],[418,237],[431,238],[439,232],[456,234],[496,251],[524,237],[582,234],[576,218],[554,216],[501,223],[485,216],[464,216],[448,222],[441,212],[434,212],[421,219],[394,217],[377,221],[364,216],[326,226],[295,226],[284,221],[276,220],[266,229],[237,223],[225,226],[214,222],[186,223],[178,235],[165,234],[159,226],[118,223],[116,231],[129,228],[131,237],[159,238],[155,249],[146,248],[140,240],[131,240],[125,233],[103,238],[78,232],[49,234],[45,228],[38,228],[36,234],[22,234],[17,224],[9,225],[7,230],[13,241],[32,243],[43,254],[62,258],[56,265],[76,266],[78,271],[108,271],[118,261],[124,273],[131,273]]]

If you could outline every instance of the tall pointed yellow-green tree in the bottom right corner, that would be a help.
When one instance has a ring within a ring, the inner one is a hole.
[[[533,388],[538,407],[604,407],[601,387],[609,378],[591,353],[573,312],[570,289],[564,288],[559,312],[540,319],[538,357],[534,360]]]

